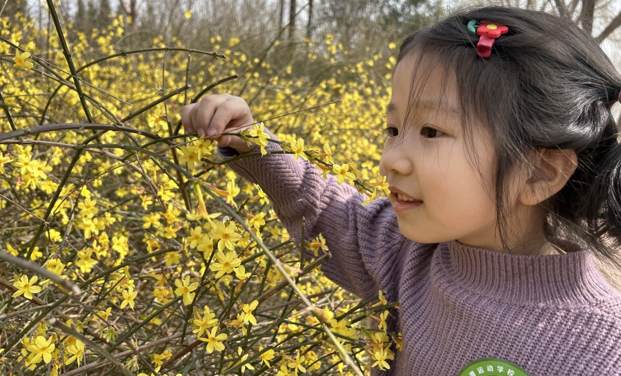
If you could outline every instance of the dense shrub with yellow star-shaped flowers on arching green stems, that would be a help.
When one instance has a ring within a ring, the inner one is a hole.
[[[268,126],[286,152],[371,200],[386,189],[377,159],[394,60],[373,55],[313,80],[218,37],[217,52],[159,38],[122,51],[121,18],[94,31],[95,45],[77,34],[68,46],[73,31],[49,12],[49,29],[0,19],[0,374],[388,368],[395,304],[325,279],[324,239],[296,246],[261,188],[184,135],[179,113],[206,92],[239,93],[262,121],[241,135],[259,155]],[[300,51],[335,66],[344,55],[329,36]]]

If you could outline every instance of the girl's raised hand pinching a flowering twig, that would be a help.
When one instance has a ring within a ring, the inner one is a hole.
[[[186,133],[206,135],[220,146],[235,148],[240,154],[253,150],[254,145],[237,136],[222,135],[250,128],[255,121],[248,103],[229,94],[207,95],[199,103],[190,103],[181,109],[181,123]]]

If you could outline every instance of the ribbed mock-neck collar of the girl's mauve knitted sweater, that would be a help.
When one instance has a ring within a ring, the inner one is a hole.
[[[502,301],[580,306],[621,296],[600,274],[588,250],[529,256],[458,241],[441,249],[442,268],[457,284]]]

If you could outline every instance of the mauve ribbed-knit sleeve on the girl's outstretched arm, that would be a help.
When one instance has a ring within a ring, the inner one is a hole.
[[[220,148],[226,159],[237,155]],[[266,150],[282,150],[270,142]],[[257,148],[258,151],[258,148]],[[322,264],[326,277],[366,299],[378,290],[393,295],[397,259],[406,239],[401,234],[391,204],[386,198],[362,206],[363,197],[335,177],[321,176],[319,169],[301,157],[268,154],[228,163],[249,181],[259,184],[291,237],[299,244],[302,217],[306,239],[321,233],[331,257]]]

